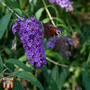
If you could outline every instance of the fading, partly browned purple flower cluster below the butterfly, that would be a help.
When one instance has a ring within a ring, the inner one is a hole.
[[[67,36],[61,35],[51,38],[47,43],[46,48],[56,48],[56,50],[59,51],[62,56],[69,59],[71,56],[71,52],[68,50],[69,45],[73,45],[73,40]]]

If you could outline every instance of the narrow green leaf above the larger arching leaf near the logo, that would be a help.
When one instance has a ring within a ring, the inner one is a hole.
[[[19,60],[17,60],[17,59],[13,59],[13,58],[12,58],[12,59],[8,59],[8,60],[6,61],[6,63],[15,64],[15,65],[21,67],[22,69],[24,69],[24,70],[32,73],[32,71],[31,71],[23,62],[21,62],[21,61],[19,61]]]

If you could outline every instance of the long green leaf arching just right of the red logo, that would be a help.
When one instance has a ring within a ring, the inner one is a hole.
[[[34,85],[36,85],[40,90],[44,90],[41,83],[35,78],[32,74],[22,71],[16,71],[10,74],[10,76],[15,76],[18,78],[23,78],[29,82],[32,82]]]

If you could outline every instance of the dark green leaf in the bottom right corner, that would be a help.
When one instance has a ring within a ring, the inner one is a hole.
[[[90,78],[88,76],[90,72],[88,70],[82,72],[82,79],[85,86],[85,90],[90,90]]]

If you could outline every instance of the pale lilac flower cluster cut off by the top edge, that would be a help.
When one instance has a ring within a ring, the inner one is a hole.
[[[72,11],[73,7],[69,0],[49,0],[51,4],[57,3],[61,8],[65,8],[66,12]]]

